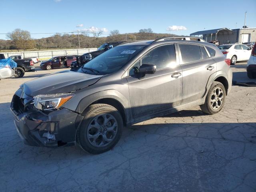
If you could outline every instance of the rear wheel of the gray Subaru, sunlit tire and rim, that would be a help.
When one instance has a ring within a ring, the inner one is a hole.
[[[220,82],[214,81],[207,93],[207,96],[205,98],[205,103],[200,105],[200,108],[204,113],[211,114],[211,115],[216,114],[224,106],[225,100],[226,100],[226,90],[223,84]]]

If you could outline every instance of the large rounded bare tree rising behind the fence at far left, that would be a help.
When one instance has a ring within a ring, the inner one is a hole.
[[[6,35],[7,38],[12,40],[18,50],[34,48],[35,42],[30,37],[30,32],[21,29],[15,29]]]

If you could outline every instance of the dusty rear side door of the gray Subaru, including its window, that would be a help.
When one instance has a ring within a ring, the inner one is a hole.
[[[186,104],[204,96],[208,79],[216,72],[216,63],[204,46],[179,43],[178,47],[183,80],[181,104]]]

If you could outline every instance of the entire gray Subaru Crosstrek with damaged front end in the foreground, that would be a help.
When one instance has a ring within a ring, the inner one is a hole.
[[[116,145],[124,126],[191,106],[219,112],[231,88],[229,65],[215,45],[200,38],[128,42],[76,72],[22,84],[10,108],[26,144],[77,143],[99,154]]]

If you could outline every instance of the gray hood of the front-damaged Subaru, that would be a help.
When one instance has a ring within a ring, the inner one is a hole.
[[[68,93],[96,83],[102,76],[70,70],[49,74],[30,80],[23,85],[23,91],[29,96]]]

